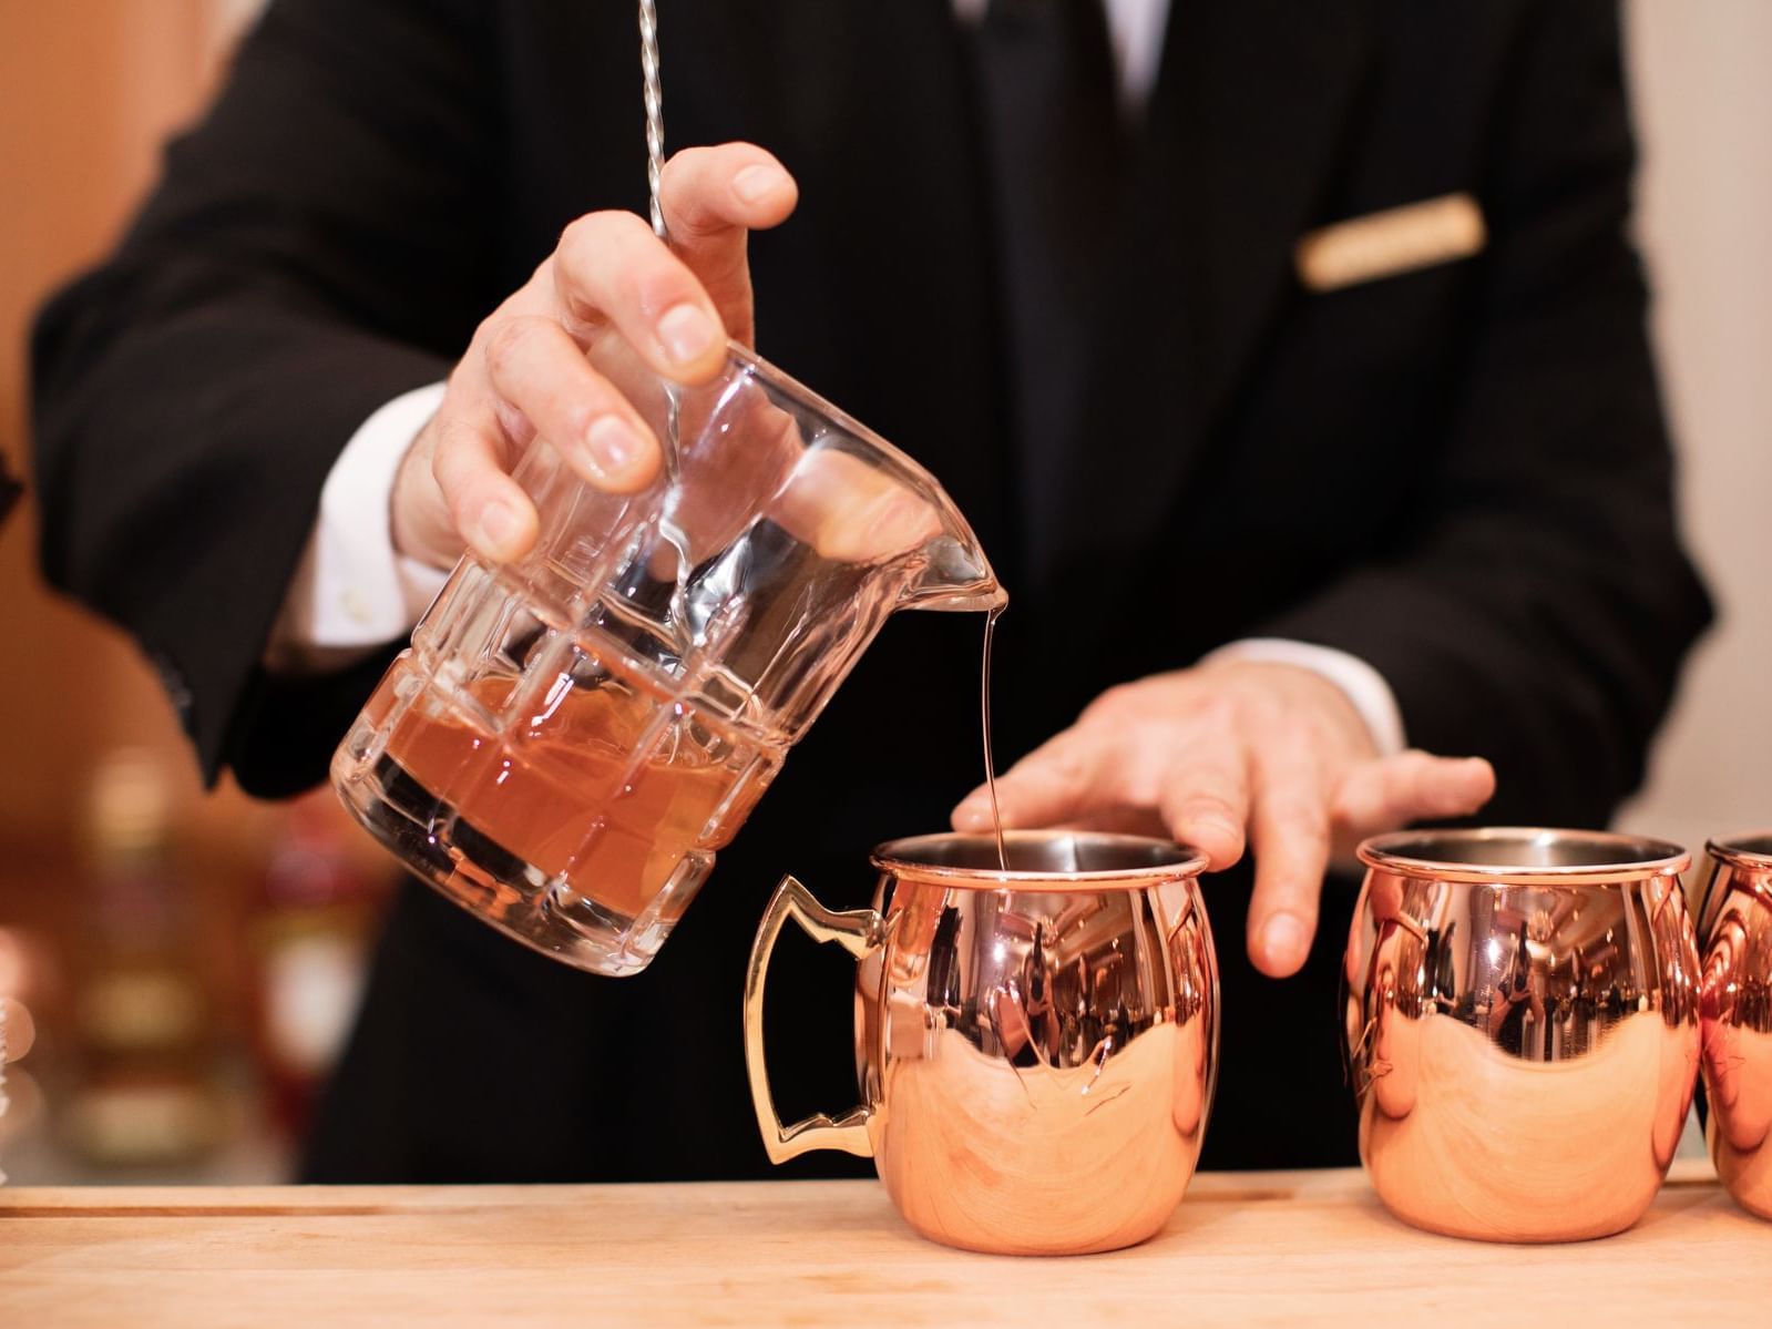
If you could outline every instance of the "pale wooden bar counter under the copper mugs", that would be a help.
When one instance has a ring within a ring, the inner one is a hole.
[[[1630,1232],[1481,1246],[1357,1171],[1207,1173],[1145,1246],[982,1256],[874,1182],[0,1189],[0,1325],[1768,1325],[1772,1223],[1701,1161]]]

